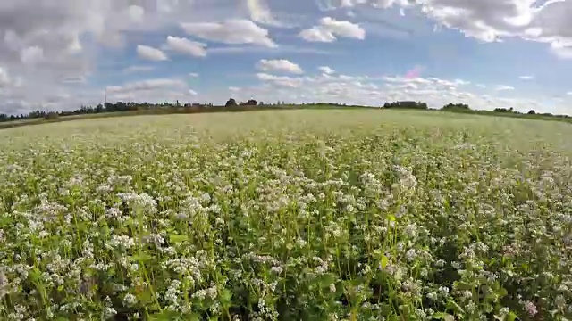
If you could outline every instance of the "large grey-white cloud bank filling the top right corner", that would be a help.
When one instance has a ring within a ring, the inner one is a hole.
[[[441,26],[457,29],[467,37],[484,42],[502,41],[505,37],[551,44],[551,52],[572,59],[572,2],[566,0],[318,0],[321,8],[333,10],[358,4],[374,7],[418,7]],[[317,37],[318,35],[315,34]]]

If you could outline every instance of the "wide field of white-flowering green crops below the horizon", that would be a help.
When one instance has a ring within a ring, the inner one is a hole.
[[[253,111],[0,131],[0,320],[572,318],[572,126]]]

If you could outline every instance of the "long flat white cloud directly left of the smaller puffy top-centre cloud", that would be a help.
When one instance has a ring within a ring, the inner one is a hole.
[[[248,20],[223,22],[187,22],[181,28],[189,35],[229,45],[252,44],[274,47],[267,29]]]

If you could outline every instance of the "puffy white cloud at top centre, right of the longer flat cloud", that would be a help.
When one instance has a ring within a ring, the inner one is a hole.
[[[330,17],[324,17],[319,25],[300,31],[299,37],[311,42],[332,42],[337,37],[363,40],[366,38],[366,30],[349,21],[336,21]]]

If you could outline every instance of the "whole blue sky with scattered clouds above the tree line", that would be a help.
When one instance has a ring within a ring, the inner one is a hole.
[[[567,0],[2,0],[0,112],[107,101],[572,114]]]

